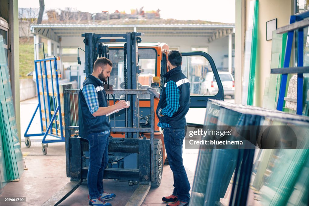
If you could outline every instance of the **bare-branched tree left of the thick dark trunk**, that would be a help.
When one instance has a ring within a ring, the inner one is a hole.
[[[19,8],[19,31],[22,35],[27,37],[29,41],[31,36],[30,27],[35,24],[39,15],[39,11],[36,8]]]

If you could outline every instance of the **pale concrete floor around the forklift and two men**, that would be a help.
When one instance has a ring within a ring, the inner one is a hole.
[[[50,143],[47,155],[43,155],[41,140],[42,137],[30,137],[31,147],[25,146],[23,134],[26,131],[32,114],[35,111],[37,99],[30,99],[21,102],[21,148],[24,155],[25,166],[19,182],[7,183],[0,197],[25,197],[25,203],[5,203],[0,205],[41,205],[48,200],[55,192],[60,190],[70,178],[66,177],[65,143]],[[28,133],[39,132],[39,115],[36,116],[33,126]],[[184,149],[184,166],[192,187],[194,171],[197,161],[198,149]],[[123,206],[133,194],[137,186],[129,186],[126,182],[114,182],[104,180],[104,188],[107,192],[116,194],[116,198],[109,200],[113,206]],[[173,189],[172,171],[168,165],[163,166],[163,179],[161,186],[151,188],[143,206],[166,205],[162,197],[170,195]],[[191,191],[190,191],[191,192]],[[66,200],[59,205],[88,205],[87,184],[82,184]]]

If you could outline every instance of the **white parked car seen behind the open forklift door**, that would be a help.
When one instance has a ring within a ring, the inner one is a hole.
[[[230,95],[234,99],[235,86],[234,78],[229,72],[218,72],[223,86],[223,95]],[[201,83],[201,95],[216,95],[218,93],[218,85],[214,78],[214,73],[208,72],[205,81]]]

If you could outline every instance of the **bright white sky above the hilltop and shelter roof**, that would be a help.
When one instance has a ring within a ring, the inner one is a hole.
[[[205,20],[235,23],[235,0],[45,0],[45,9],[73,7],[79,11],[97,13],[115,10],[131,13],[144,6],[144,11],[160,9],[162,19]],[[39,0],[18,0],[18,7],[40,7]]]

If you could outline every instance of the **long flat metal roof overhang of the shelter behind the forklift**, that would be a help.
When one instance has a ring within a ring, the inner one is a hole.
[[[80,37],[85,32],[121,34],[138,31],[145,36],[205,37],[208,42],[234,33],[235,24],[161,24],[161,25],[98,25],[98,24],[35,24],[32,33],[59,42],[60,37]]]

